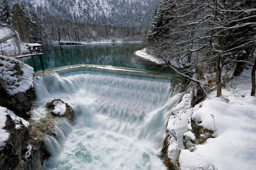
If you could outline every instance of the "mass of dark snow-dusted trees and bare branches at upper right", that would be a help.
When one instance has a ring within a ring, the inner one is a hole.
[[[244,64],[248,57],[239,57],[244,53],[248,56],[256,43],[256,9],[252,4],[234,0],[165,0],[153,20],[148,49],[191,81],[200,81],[201,73],[215,70],[219,97],[223,65],[243,69],[239,63]],[[162,24],[160,30],[157,23]]]

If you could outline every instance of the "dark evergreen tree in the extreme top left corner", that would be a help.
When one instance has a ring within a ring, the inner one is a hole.
[[[0,4],[0,20],[6,24],[10,24],[12,13],[10,6],[6,0],[2,0]]]

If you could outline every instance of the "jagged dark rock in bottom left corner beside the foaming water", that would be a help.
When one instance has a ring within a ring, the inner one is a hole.
[[[6,114],[3,130],[9,136],[0,148],[0,169],[42,169],[47,154],[38,131],[10,110],[1,110],[1,114]]]

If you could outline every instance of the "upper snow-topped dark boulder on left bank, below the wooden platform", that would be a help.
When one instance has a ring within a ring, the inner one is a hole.
[[[1,106],[13,110],[17,115],[28,118],[34,99],[33,68],[12,57],[0,56]]]

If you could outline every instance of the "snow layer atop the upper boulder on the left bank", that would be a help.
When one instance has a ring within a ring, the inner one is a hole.
[[[18,75],[15,65],[20,64],[22,74]],[[12,57],[0,57],[0,79],[8,82],[7,92],[15,95],[19,92],[26,92],[33,87],[33,68]]]

